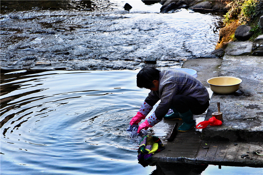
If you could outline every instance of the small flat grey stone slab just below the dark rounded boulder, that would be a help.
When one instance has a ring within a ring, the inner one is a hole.
[[[251,54],[252,42],[230,42],[225,50],[226,55],[249,55]]]

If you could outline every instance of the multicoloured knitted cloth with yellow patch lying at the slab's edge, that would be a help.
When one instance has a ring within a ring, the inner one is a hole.
[[[138,149],[138,160],[151,159],[155,152],[160,152],[164,149],[159,137],[156,136],[145,136],[140,142]]]

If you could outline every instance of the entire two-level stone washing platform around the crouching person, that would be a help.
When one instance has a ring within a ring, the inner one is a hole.
[[[258,141],[262,138],[260,134],[263,128],[262,62],[262,57],[229,55],[225,55],[223,60],[208,58],[187,60],[182,68],[196,70],[197,78],[206,87],[209,87],[206,80],[216,76],[235,76],[241,78],[243,82],[236,93],[230,95],[213,93],[207,114],[194,115],[196,123],[210,118],[212,112],[217,111],[217,102],[220,100],[224,119],[222,126],[208,126],[202,129],[202,133],[201,129],[179,132],[172,142],[167,140],[169,132],[176,122],[180,126],[183,121],[164,119],[154,126],[153,134],[160,136],[165,149],[154,154],[151,161],[157,162],[160,167],[168,166],[170,162],[171,172],[175,172],[172,170],[175,163],[179,163],[180,166],[182,163],[191,163],[263,167],[261,156],[263,142]],[[204,136],[209,140],[203,139]]]

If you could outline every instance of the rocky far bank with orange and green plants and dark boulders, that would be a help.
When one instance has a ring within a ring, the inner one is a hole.
[[[143,0],[142,0],[143,1]],[[233,21],[231,24],[225,25],[220,29],[219,39],[216,46],[216,50],[210,53],[206,53],[199,58],[217,58],[222,57],[225,52],[225,48],[228,43],[231,41],[247,41],[251,40],[252,36],[255,36],[256,39],[253,41],[252,47],[252,55],[253,56],[262,56],[263,55],[263,42],[261,37],[257,37],[258,35],[263,34],[263,10],[260,11],[261,7],[263,7],[263,2],[254,1],[254,4],[257,5],[250,9],[250,16],[254,17],[254,21],[252,17],[240,16],[235,13],[240,11],[242,7],[236,7],[235,1],[202,1],[202,0],[194,0],[194,1],[185,1],[185,0],[162,0],[162,1],[143,1],[145,4],[153,4],[159,2],[162,7],[160,9],[160,13],[176,13],[179,9],[190,9],[193,11],[222,11],[224,13],[229,13],[225,15],[225,17],[229,18],[229,21]],[[247,1],[249,3],[249,1]],[[243,3],[246,3],[243,1]],[[248,4],[250,5],[250,4]],[[238,10],[235,8],[239,8]],[[254,12],[254,11],[255,12]],[[234,13],[234,12],[235,13]],[[252,12],[254,13],[252,15]],[[259,16],[259,17],[258,17]],[[238,20],[236,19],[238,18]],[[239,21],[239,18],[241,20]],[[246,18],[250,18],[250,21]],[[258,19],[259,18],[259,19]],[[253,29],[249,24],[252,23],[256,25],[259,29],[257,30],[258,35],[255,34],[255,29]],[[254,35],[255,34],[255,35]]]

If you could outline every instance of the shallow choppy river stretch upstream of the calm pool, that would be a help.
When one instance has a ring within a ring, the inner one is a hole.
[[[31,68],[37,61],[67,70],[135,70],[145,59],[157,67],[214,50],[221,14],[126,1],[1,1],[1,67]],[[50,8],[52,6],[53,8]]]

